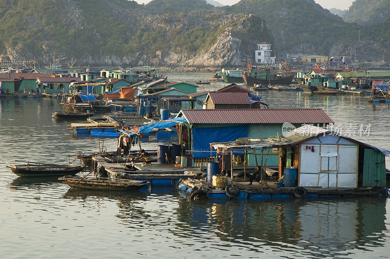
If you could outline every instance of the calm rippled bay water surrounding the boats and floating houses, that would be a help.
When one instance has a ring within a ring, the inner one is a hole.
[[[195,82],[209,76],[169,78]],[[390,149],[389,105],[372,106],[365,97],[260,94],[272,108],[322,108],[343,128],[371,124],[370,134],[354,137]],[[57,109],[51,99],[0,99],[1,258],[390,257],[389,199],[189,203],[170,188],[68,191],[56,179],[15,176],[5,167],[15,160],[67,162],[68,152],[98,150],[97,140],[76,138],[66,130],[69,123],[53,120]],[[156,146],[150,140],[143,146]],[[104,145],[113,150],[116,142]]]

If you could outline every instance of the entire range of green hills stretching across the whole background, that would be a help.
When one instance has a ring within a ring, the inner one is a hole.
[[[383,4],[389,1],[372,0],[369,10],[382,6],[375,17],[386,17],[390,11]],[[355,1],[349,12],[368,2]],[[0,54],[48,61],[55,51],[57,57],[92,62],[156,58],[156,52],[192,58],[209,51],[232,27],[246,55],[252,56],[255,43],[265,40],[276,51],[327,56],[335,43],[356,44],[359,30],[361,41],[390,40],[390,19],[377,23],[347,23],[314,0],[241,0],[224,7],[205,0],[153,0],[147,5],[129,0],[0,0]]]

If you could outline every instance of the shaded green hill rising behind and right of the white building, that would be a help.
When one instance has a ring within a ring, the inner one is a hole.
[[[356,40],[355,34],[360,29],[356,24],[345,23],[313,0],[241,0],[226,9],[230,13],[252,13],[264,19],[277,48],[285,51],[309,44],[308,51],[328,55],[334,43]]]

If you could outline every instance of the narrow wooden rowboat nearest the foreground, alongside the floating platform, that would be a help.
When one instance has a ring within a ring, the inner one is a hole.
[[[65,181],[65,184],[74,186],[74,188],[82,189],[98,189],[98,190],[138,190],[150,183],[147,181],[127,180],[127,179],[108,179],[108,178],[81,178],[74,176],[63,176],[58,180]]]

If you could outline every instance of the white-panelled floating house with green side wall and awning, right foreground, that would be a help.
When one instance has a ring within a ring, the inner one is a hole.
[[[388,150],[376,148],[337,132],[304,125],[284,132],[279,141],[265,139],[216,144],[227,150],[260,150],[277,148],[279,178],[284,168],[295,168],[296,185],[321,188],[364,188],[386,186],[385,157]],[[279,136],[282,131],[279,131]],[[262,152],[263,152],[262,151]],[[267,163],[268,165],[268,163]]]

